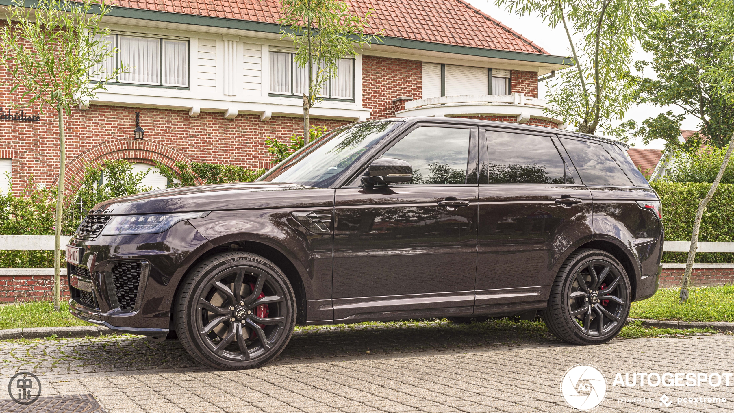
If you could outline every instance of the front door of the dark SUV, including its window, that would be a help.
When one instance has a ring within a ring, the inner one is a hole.
[[[380,156],[413,180],[336,190],[335,320],[472,313],[477,147],[476,128],[416,125]]]

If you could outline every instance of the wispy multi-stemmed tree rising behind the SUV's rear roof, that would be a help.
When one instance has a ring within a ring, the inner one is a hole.
[[[578,131],[622,138],[614,127],[632,102],[629,78],[633,44],[653,15],[654,0],[495,0],[517,15],[539,15],[551,28],[562,26],[574,67],[549,84],[546,112]],[[574,39],[577,37],[577,39]]]

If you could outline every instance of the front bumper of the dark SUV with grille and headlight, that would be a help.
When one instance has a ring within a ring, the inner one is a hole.
[[[72,238],[80,264],[67,264],[70,313],[116,332],[161,336],[179,280],[208,241],[188,222],[146,235]]]

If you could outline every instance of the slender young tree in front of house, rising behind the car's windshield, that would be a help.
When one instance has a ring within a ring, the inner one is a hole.
[[[337,74],[337,62],[346,56],[356,56],[357,49],[382,37],[367,34],[368,18],[349,12],[339,0],[283,0],[283,17],[278,23],[281,38],[289,37],[296,48],[294,60],[298,67],[308,67],[308,91],[303,93],[303,139],[308,143],[309,111],[321,100],[327,81]],[[287,26],[287,27],[286,27]]]

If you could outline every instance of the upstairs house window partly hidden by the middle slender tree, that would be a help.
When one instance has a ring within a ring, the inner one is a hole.
[[[321,88],[319,97],[333,100],[355,99],[355,59],[339,59],[335,76]],[[316,72],[316,67],[313,71]],[[270,95],[302,97],[308,93],[308,67],[299,67],[294,54],[270,52]]]

